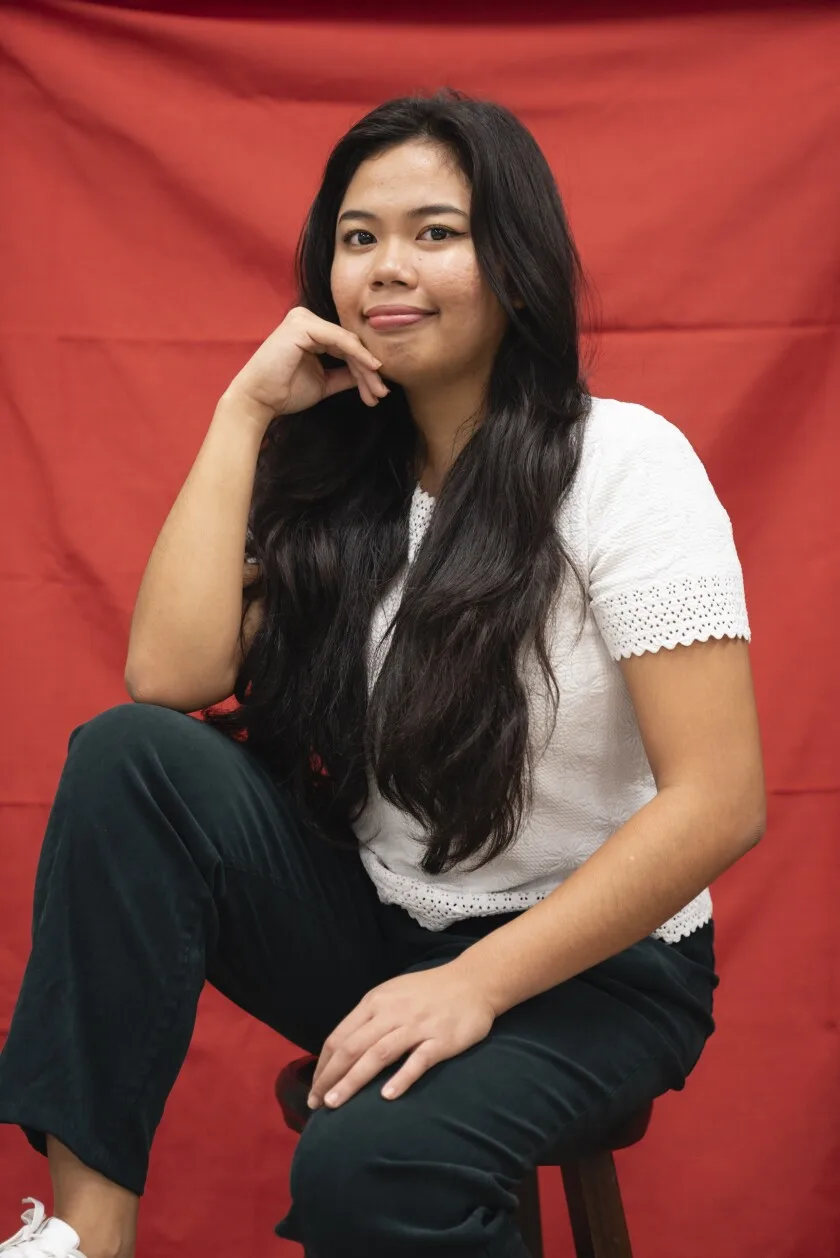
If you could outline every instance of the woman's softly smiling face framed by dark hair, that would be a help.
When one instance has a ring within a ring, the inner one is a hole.
[[[470,186],[451,153],[419,141],[362,162],[342,200],[332,263],[338,320],[381,359],[384,376],[409,389],[485,379],[504,335],[469,209]]]

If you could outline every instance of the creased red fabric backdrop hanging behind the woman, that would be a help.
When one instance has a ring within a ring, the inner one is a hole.
[[[363,6],[343,21],[233,3],[0,10],[0,1033],[67,736],[126,701],[143,564],[219,392],[284,313],[327,150],[376,102],[455,84],[513,107],[544,146],[601,294],[595,391],[685,430],[746,571],[770,825],[717,886],[718,1034],[644,1145],[619,1155],[638,1250],[827,1258],[840,13],[521,8],[480,24],[424,8],[417,25]],[[293,1141],[272,1082],[293,1054],[205,993],[141,1254],[282,1245],[269,1229]],[[543,1185],[550,1252],[565,1255],[557,1172]],[[49,1200],[44,1164],[10,1128],[0,1186],[0,1237],[21,1195]]]

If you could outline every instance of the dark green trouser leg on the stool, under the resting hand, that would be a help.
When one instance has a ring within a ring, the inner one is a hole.
[[[645,940],[508,1010],[396,1101],[380,1094],[392,1066],[316,1111],[278,1234],[308,1258],[526,1258],[524,1175],[684,1086],[714,1028],[712,938],[708,926],[679,945]],[[438,962],[470,942],[441,936]]]

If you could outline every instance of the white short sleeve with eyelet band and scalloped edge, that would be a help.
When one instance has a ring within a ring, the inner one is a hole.
[[[688,438],[645,406],[611,403],[592,447],[590,599],[611,658],[749,640],[732,523]]]

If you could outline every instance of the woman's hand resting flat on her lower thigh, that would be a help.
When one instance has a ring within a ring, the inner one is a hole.
[[[309,1106],[342,1105],[391,1062],[411,1053],[382,1088],[391,1101],[430,1066],[478,1044],[494,1019],[490,1001],[456,962],[389,979],[372,988],[324,1042]]]

